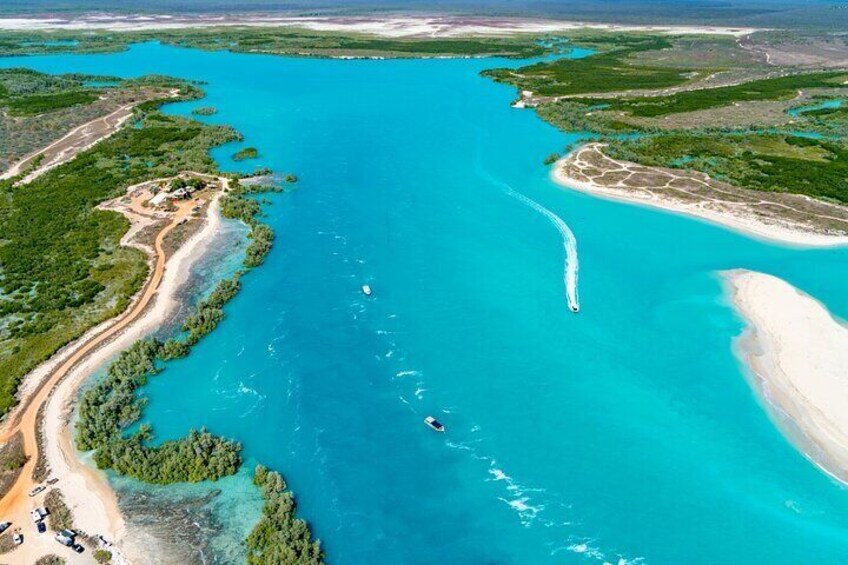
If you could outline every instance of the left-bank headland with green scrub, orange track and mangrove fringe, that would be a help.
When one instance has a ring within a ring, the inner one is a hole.
[[[111,542],[120,541],[116,526],[120,516],[108,508],[114,497],[106,503],[103,496],[98,499],[96,488],[86,488],[91,474],[81,477],[85,470],[75,474],[79,469],[66,463],[75,460],[76,454],[69,445],[62,445],[62,414],[85,374],[66,379],[81,363],[105,359],[111,343],[139,331],[134,324],[145,318],[154,302],[172,299],[173,277],[168,291],[162,284],[166,269],[177,268],[168,260],[179,255],[184,244],[188,247],[202,236],[200,226],[214,221],[220,208],[224,217],[250,228],[243,270],[222,281],[197,306],[178,336],[164,342],[144,338],[118,355],[105,378],[82,396],[75,443],[80,450],[94,452],[99,468],[156,484],[216,480],[235,473],[242,464],[236,441],[201,429],[154,447],[149,427],[142,425],[133,433],[128,427],[142,414],[137,387],[161,372],[167,361],[188,355],[217,326],[225,303],[240,288],[241,276],[263,262],[273,232],[259,221],[261,210],[251,197],[269,188],[241,185],[238,177],[220,176],[208,154],[213,146],[240,139],[237,132],[158,111],[164,102],[200,97],[196,86],[164,77],[109,79],[108,92],[101,95],[103,87],[88,86],[95,81],[103,82],[29,70],[0,74],[0,105],[7,108],[4,116],[9,120],[3,133],[8,135],[9,147],[20,147],[17,155],[22,156],[0,184],[0,231],[4,234],[0,347],[4,351],[3,409],[8,412],[3,438],[5,459],[16,470],[8,480],[4,478],[0,510],[4,518],[23,523],[33,502],[51,496],[39,487],[41,493],[27,497],[48,477],[80,486],[73,489],[67,504],[78,511],[75,525],[80,539],[93,550],[118,555],[120,546]],[[92,88],[98,89],[97,96],[91,95]],[[98,104],[104,99],[114,102]],[[71,139],[91,121],[113,114],[118,103],[120,110],[129,111],[135,127],[120,127],[127,116],[109,127],[86,130],[84,143],[66,144],[61,158],[51,153],[55,141],[41,151],[32,149],[48,136],[46,130],[42,132],[43,124],[70,128],[60,141]],[[77,112],[65,113],[69,108]],[[77,125],[77,113],[89,121]],[[34,131],[37,136],[22,139],[16,135],[19,131]],[[45,159],[54,157],[57,162],[42,166]],[[199,215],[203,213],[206,220]],[[17,385],[27,373],[23,403],[10,412]],[[59,386],[66,383],[69,386]],[[56,391],[64,391],[64,396]],[[51,406],[58,407],[51,410]],[[45,421],[50,416],[53,421]],[[59,431],[42,434],[41,427]],[[59,456],[51,458],[51,452]],[[282,555],[293,563],[322,562],[320,544],[295,517],[296,505],[282,477],[260,467],[256,484],[266,504],[246,540],[250,562],[268,562]],[[92,517],[104,504],[110,515]],[[103,525],[105,518],[105,529],[89,529]],[[104,538],[96,534],[112,538],[108,550],[101,547]],[[3,534],[11,535],[11,531]],[[32,562],[47,558],[53,546],[43,547],[38,541],[18,548],[17,557]]]

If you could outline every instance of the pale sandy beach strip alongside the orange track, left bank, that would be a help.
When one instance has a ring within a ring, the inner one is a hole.
[[[117,495],[109,485],[106,474],[81,459],[76,451],[70,422],[72,408],[78,398],[80,387],[93,375],[94,371],[137,339],[155,331],[175,313],[179,306],[178,293],[188,281],[191,268],[207,254],[214,236],[220,231],[219,199],[222,194],[223,192],[218,192],[210,200],[205,218],[202,220],[203,226],[193,233],[172,256],[165,258],[161,265],[162,272],[158,282],[155,267],[151,268],[148,282],[134,297],[126,311],[130,313],[136,311],[145,295],[150,293],[149,301],[138,315],[123,326],[121,326],[122,322],[125,322],[131,314],[125,312],[91,328],[82,337],[37,367],[23,381],[22,400],[4,424],[5,433],[8,433],[10,429],[18,429],[24,425],[24,422],[26,425],[37,427],[38,417],[33,418],[31,404],[38,404],[39,398],[46,394],[46,399],[40,404],[43,420],[40,429],[35,430],[35,434],[41,437],[39,443],[50,470],[48,476],[58,479],[56,486],[62,490],[65,503],[73,516],[74,526],[90,535],[100,535],[114,544],[109,549],[113,553],[112,562],[116,564],[143,563],[144,548],[134,547],[131,540],[127,539],[126,524],[118,506]],[[177,222],[178,220],[175,219],[170,227]],[[168,228],[163,230],[160,237],[163,238],[168,231]],[[127,235],[131,233],[132,230]],[[126,242],[122,243],[126,244]],[[161,243],[157,242],[157,245]],[[152,259],[154,250],[146,251]],[[152,288],[151,285],[153,285]],[[94,349],[86,352],[86,348],[90,347],[93,341],[102,339],[109,332],[113,333],[95,345]],[[56,372],[62,371],[68,363],[73,363],[79,355],[83,357],[78,363],[60,376],[58,383],[55,383],[52,389],[46,390],[51,385],[48,379],[54,378],[53,375]],[[31,421],[33,419],[35,422]],[[32,463],[34,464],[34,461]],[[11,518],[14,523],[25,523],[28,520],[29,506],[24,507],[23,504],[17,504],[17,501],[20,500],[23,492],[31,488],[30,483],[34,484],[30,476],[30,466],[30,464],[25,466],[21,477],[13,487],[13,490],[19,492],[10,491],[12,496],[7,495],[3,499],[4,515],[7,519]],[[40,538],[36,539],[40,541]],[[50,540],[44,539],[47,540],[44,543],[49,544]],[[34,562],[43,554],[43,551],[43,544],[28,543],[17,548],[14,554],[16,558]]]

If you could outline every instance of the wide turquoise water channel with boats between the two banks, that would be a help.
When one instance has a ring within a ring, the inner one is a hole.
[[[848,251],[558,188],[542,160],[577,136],[478,76],[503,64],[153,44],[0,60],[207,81],[169,111],[215,106],[204,120],[259,148],[220,148],[225,168],[300,177],[270,197],[266,264],[151,381],[147,418],[159,439],[206,425],[284,472],[332,563],[844,562],[848,493],[748,386],[716,272],[776,274],[845,317]],[[574,232],[579,315],[561,234],[510,188]]]

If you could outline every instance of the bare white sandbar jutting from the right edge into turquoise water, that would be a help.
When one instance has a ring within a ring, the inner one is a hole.
[[[778,427],[848,484],[848,326],[813,297],[763,273],[722,273],[747,327],[735,350]]]

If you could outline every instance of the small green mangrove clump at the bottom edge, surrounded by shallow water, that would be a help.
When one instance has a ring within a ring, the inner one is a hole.
[[[321,542],[312,540],[309,526],[295,518],[297,504],[282,475],[262,465],[253,482],[262,491],[262,517],[247,537],[248,565],[321,565]]]

